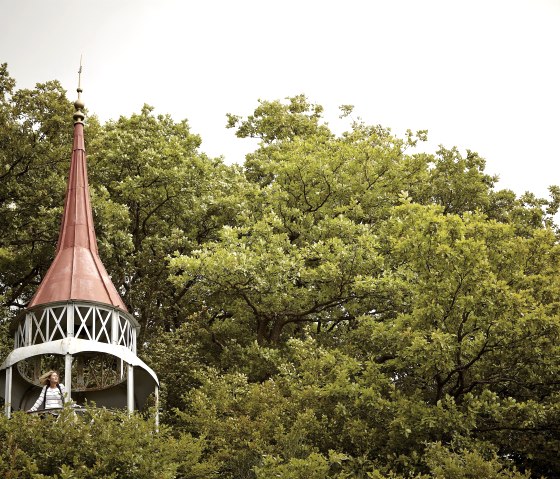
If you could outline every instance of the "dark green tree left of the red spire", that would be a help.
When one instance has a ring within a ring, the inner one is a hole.
[[[72,106],[57,81],[14,88],[7,65],[1,65],[0,297],[17,310],[54,252],[71,145],[71,129],[63,125]]]

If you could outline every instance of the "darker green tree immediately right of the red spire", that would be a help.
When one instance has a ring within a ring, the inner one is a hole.
[[[189,285],[168,282],[167,259],[216,238],[241,187],[236,167],[198,151],[187,121],[152,111],[108,122],[89,146],[100,254],[143,334],[189,315]]]

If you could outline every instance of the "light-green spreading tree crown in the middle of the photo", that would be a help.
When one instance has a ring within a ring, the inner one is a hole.
[[[238,226],[171,263],[178,287],[194,283],[193,300],[260,343],[305,323],[352,321],[392,294],[375,228],[427,172],[422,157],[404,155],[411,138],[363,125],[335,138],[320,111],[300,96],[264,102],[241,123],[240,136],[264,140],[248,159]]]

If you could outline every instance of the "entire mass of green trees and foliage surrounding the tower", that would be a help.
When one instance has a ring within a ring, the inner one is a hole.
[[[16,90],[2,65],[2,357],[54,255],[71,116],[58,82]],[[162,431],[92,411],[61,445],[16,414],[4,477],[560,477],[560,188],[517,196],[474,151],[348,122],[261,100],[227,115],[259,139],[228,165],[147,105],[86,118],[100,255]]]

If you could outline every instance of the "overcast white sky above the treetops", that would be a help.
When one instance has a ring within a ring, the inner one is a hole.
[[[0,62],[18,87],[58,79],[102,121],[188,119],[242,162],[225,128],[257,99],[305,93],[372,124],[478,151],[499,186],[560,184],[560,0],[0,0]]]

